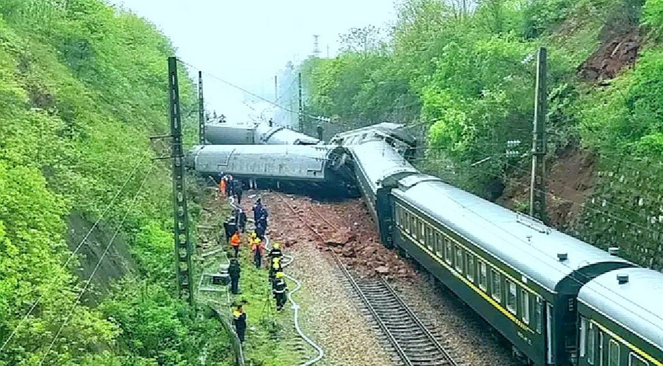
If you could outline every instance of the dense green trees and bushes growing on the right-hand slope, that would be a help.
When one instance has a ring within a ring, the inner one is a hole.
[[[531,144],[535,55],[546,46],[548,118],[556,132],[549,139],[551,157],[579,143],[657,151],[663,146],[654,122],[660,99],[650,83],[663,66],[658,51],[646,52],[642,66],[608,90],[587,90],[576,78],[579,65],[605,36],[603,25],[627,29],[629,21],[637,21],[640,5],[484,0],[460,16],[444,1],[405,0],[389,37],[371,27],[354,29],[341,37],[348,46],[339,56],[304,62],[308,110],[342,126],[383,120],[415,126],[426,141],[424,169],[490,196],[496,179],[521,172],[527,163],[505,157],[505,143],[520,139],[523,153]],[[663,23],[662,7],[660,1],[645,4],[644,19],[652,29]],[[357,46],[366,39],[379,41]],[[491,159],[469,166],[485,157]]]

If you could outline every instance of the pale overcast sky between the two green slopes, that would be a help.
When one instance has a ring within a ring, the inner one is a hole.
[[[394,0],[108,1],[154,23],[182,60],[253,92],[273,90],[274,74],[288,60],[312,54],[313,35],[320,35],[321,56],[328,45],[333,56],[339,34],[395,19]],[[208,109],[243,113],[241,92],[210,77],[204,91]]]

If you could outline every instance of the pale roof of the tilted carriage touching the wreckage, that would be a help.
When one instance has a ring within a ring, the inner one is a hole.
[[[348,149],[355,159],[355,165],[371,184],[373,193],[385,183],[396,184],[397,181],[389,181],[391,177],[418,173],[394,147],[381,139],[364,141]]]

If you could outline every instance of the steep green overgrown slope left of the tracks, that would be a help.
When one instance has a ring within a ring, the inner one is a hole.
[[[172,296],[171,183],[147,137],[168,128],[173,52],[101,0],[0,3],[0,365],[224,359],[215,323]]]

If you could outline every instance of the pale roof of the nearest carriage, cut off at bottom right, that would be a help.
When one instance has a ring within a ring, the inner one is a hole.
[[[618,274],[629,276],[629,282],[619,284]],[[585,284],[578,301],[663,351],[662,273],[648,268],[612,270]]]

